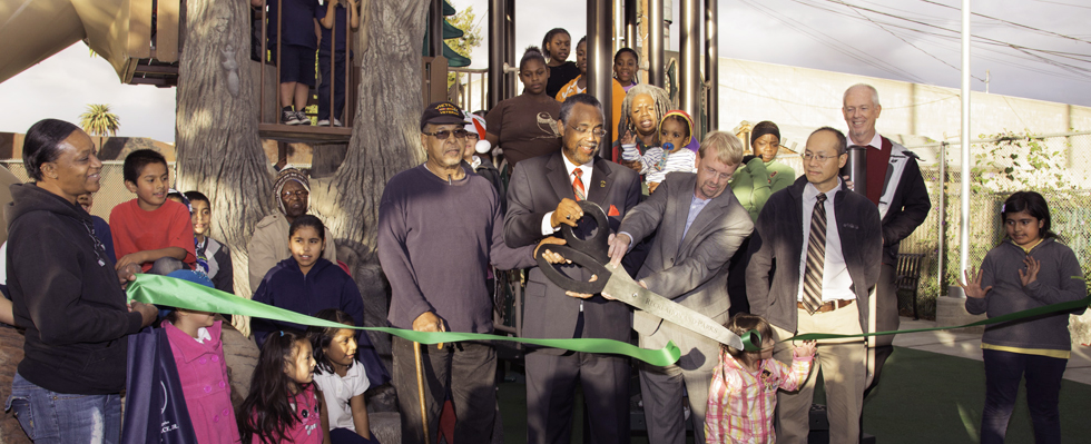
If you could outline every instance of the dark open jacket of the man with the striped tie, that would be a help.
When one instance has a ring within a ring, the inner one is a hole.
[[[750,238],[750,263],[746,267],[746,295],[750,313],[788,332],[796,330],[799,295],[799,260],[803,248],[803,190],[807,176],[774,193],[758,215]],[[878,208],[867,197],[842,188],[834,195],[837,235],[853,279],[861,330],[867,332],[868,292],[878,280],[883,257]],[[769,270],[776,260],[776,273]]]

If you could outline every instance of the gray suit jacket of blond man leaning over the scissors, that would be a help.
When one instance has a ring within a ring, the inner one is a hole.
[[[626,215],[619,231],[628,233],[637,241],[658,230],[637,279],[643,279],[648,289],[723,324],[731,306],[727,296],[727,262],[750,235],[754,224],[728,188],[705,205],[682,238],[696,186],[696,174],[668,174],[656,193]],[[674,341],[682,353],[698,345],[710,345],[714,358],[708,362],[715,364],[718,348],[715,341],[642,310],[635,313],[632,327],[641,334],[641,345],[650,339],[645,336],[658,338],[662,345],[667,339]],[[656,347],[650,343],[647,346]]]

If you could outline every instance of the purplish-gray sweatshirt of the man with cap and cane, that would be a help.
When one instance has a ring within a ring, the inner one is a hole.
[[[379,260],[391,285],[387,320],[413,328],[433,312],[450,332],[492,333],[489,264],[534,266],[535,245],[509,248],[500,196],[470,165],[462,180],[443,180],[424,165],[399,172],[379,206]]]

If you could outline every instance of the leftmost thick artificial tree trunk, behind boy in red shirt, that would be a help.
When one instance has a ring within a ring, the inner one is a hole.
[[[230,247],[235,294],[249,297],[246,244],[273,210],[273,171],[253,118],[257,87],[239,72],[249,61],[247,4],[186,1],[175,141],[177,186],[212,200],[213,237]]]

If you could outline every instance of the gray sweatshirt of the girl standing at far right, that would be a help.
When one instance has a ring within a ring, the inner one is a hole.
[[[1029,255],[1041,262],[1042,266],[1038,279],[1024,287],[1019,270],[1026,269],[1023,259],[1028,254],[1011,240],[989,250],[981,264],[981,287],[993,288],[984,298],[967,297],[966,312],[974,315],[987,313],[989,317],[996,317],[1087,297],[1083,270],[1071,248],[1051,237],[1042,240]],[[1070,313],[989,325],[981,342],[1003,347],[1071,351]],[[1077,314],[1080,313],[1083,310]]]

